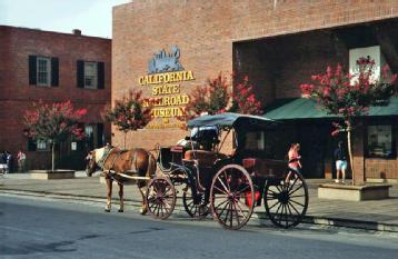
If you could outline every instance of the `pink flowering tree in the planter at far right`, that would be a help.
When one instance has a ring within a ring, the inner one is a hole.
[[[397,94],[397,86],[395,84],[397,74],[390,74],[388,66],[382,68],[381,77],[375,79],[374,60],[370,60],[369,57],[361,58],[357,60],[357,64],[359,70],[356,74],[344,72],[342,67],[338,64],[336,69],[328,67],[326,73],[312,76],[314,83],[301,84],[304,97],[316,100],[329,114],[341,118],[342,122],[334,123],[336,130],[332,136],[340,131],[347,132],[352,185],[357,180],[351,148],[355,118],[367,114],[370,106],[388,103],[390,98]]]

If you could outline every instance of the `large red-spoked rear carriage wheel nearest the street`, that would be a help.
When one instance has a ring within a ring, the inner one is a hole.
[[[222,167],[213,177],[210,189],[211,211],[227,229],[240,229],[250,219],[255,202],[255,188],[249,173],[238,165]]]

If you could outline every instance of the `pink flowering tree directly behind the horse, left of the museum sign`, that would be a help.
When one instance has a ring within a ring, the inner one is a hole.
[[[125,132],[126,148],[127,132],[142,129],[152,120],[152,101],[142,98],[142,91],[130,90],[106,110],[105,118]]]

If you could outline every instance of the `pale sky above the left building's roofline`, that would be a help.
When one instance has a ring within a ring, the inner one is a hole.
[[[0,0],[0,24],[112,38],[112,7],[130,0]]]

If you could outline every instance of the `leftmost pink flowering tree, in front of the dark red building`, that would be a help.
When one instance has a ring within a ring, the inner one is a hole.
[[[78,127],[78,122],[86,113],[86,109],[74,109],[70,101],[52,104],[39,101],[33,103],[32,110],[24,112],[26,135],[33,140],[50,143],[51,171],[56,169],[56,143],[64,141],[69,136],[84,138],[83,129]]]

